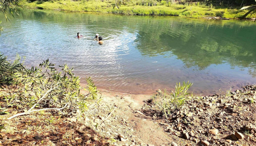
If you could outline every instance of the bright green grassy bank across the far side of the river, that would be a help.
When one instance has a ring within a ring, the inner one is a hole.
[[[239,18],[244,15],[246,10],[239,8],[223,8],[207,6],[202,3],[193,4],[173,4],[166,1],[148,1],[148,0],[131,0],[120,9],[113,9],[114,0],[101,1],[22,1],[20,5],[26,8],[55,9],[64,11],[77,12],[101,12],[110,14],[124,15],[173,15],[188,18],[200,18],[202,16],[216,16],[222,18]],[[147,6],[146,6],[147,5]],[[149,5],[149,6],[148,6]],[[255,18],[256,14],[249,14],[247,18]]]

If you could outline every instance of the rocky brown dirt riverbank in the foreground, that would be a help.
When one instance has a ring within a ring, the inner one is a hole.
[[[8,89],[1,89],[2,95],[4,90]],[[255,85],[230,95],[195,96],[169,120],[156,110],[159,92],[154,96],[109,91],[99,93],[103,97],[101,102],[90,101],[82,115],[77,113],[65,118],[57,113],[35,112],[2,121],[1,143],[17,146],[256,144]],[[4,102],[1,98],[1,105]],[[8,112],[15,114],[15,107],[9,107]],[[1,115],[1,118],[5,116],[9,114]]]

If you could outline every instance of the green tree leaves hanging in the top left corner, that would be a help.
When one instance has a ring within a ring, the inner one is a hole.
[[[14,17],[14,12],[17,13],[17,8],[19,7],[19,0],[0,0],[0,11],[4,14],[6,21],[8,19],[8,15],[12,15]],[[0,20],[1,23],[1,20]],[[1,31],[3,31],[3,27],[0,26],[0,35]]]

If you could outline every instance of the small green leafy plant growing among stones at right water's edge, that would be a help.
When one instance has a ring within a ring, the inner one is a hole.
[[[169,93],[165,90],[163,94],[161,94],[162,100],[157,103],[158,107],[162,111],[165,118],[168,118],[173,111],[181,108],[182,105],[189,99],[188,89],[193,85],[193,83],[189,83],[183,81],[182,85],[179,83],[175,86],[175,91]]]

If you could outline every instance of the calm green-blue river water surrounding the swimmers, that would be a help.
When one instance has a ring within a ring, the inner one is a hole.
[[[194,93],[215,93],[256,82],[250,21],[26,10],[2,25],[0,51],[10,59],[19,53],[28,66],[67,63],[104,89],[146,93],[190,80]]]

